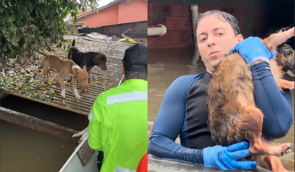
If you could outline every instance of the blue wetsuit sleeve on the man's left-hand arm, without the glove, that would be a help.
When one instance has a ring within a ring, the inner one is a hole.
[[[181,76],[168,87],[163,96],[148,142],[148,154],[158,158],[204,164],[203,150],[186,148],[175,142],[186,115],[186,94],[191,76]]]

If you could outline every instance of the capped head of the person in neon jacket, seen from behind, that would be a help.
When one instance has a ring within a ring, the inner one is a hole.
[[[125,50],[121,71],[124,80],[148,80],[148,47],[136,43]]]

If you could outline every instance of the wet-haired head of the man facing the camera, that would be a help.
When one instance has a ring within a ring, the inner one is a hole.
[[[209,73],[235,44],[243,40],[237,19],[218,10],[199,14],[195,33],[202,61]]]

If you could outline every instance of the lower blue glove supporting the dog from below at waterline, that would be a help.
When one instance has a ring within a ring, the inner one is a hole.
[[[249,153],[249,142],[238,142],[229,146],[216,145],[203,149],[204,166],[222,170],[250,170],[257,166],[254,160],[239,160]]]

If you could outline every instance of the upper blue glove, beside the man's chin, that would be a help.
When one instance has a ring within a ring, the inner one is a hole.
[[[256,60],[265,61],[269,64],[269,59],[276,55],[275,51],[269,51],[266,48],[259,37],[248,37],[240,41],[230,50],[230,53],[232,54],[235,51],[240,53],[248,66],[251,66]]]

